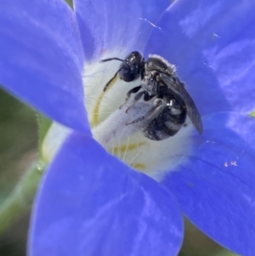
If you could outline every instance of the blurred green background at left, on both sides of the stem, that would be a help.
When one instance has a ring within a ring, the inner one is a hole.
[[[0,204],[37,159],[35,111],[0,89]],[[0,256],[26,255],[29,209],[0,236]]]

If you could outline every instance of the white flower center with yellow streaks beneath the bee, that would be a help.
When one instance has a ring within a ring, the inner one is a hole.
[[[120,51],[107,53],[103,59],[117,57],[125,59]],[[83,84],[88,120],[94,138],[112,155],[126,162],[132,168],[148,174],[156,180],[184,159],[191,148],[192,125],[181,128],[178,134],[168,139],[155,141],[142,134],[143,117],[157,104],[156,100],[133,100],[134,94],[126,101],[127,92],[139,86],[141,81],[123,82],[114,79],[107,90],[105,85],[118,71],[121,61],[111,60],[86,64]]]

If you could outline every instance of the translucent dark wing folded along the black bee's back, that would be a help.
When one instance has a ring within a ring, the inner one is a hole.
[[[184,88],[184,83],[176,78],[176,82],[173,78],[167,74],[160,73],[161,82],[167,85],[167,88],[172,92],[173,96],[178,100],[178,102],[186,107],[188,117],[190,117],[191,122],[195,125],[196,130],[199,134],[203,132],[203,125],[201,122],[201,115],[196,108],[195,102],[190,97],[190,94]]]

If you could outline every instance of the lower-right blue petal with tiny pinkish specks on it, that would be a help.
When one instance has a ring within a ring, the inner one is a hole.
[[[203,118],[195,150],[163,181],[184,214],[241,255],[255,252],[255,119],[238,113]]]

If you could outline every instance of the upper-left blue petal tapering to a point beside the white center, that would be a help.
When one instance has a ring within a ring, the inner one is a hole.
[[[0,45],[3,88],[48,117],[88,132],[82,46],[64,1],[4,1]]]

